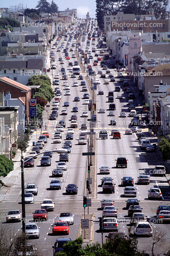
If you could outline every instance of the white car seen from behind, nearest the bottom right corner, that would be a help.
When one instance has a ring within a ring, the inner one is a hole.
[[[146,235],[146,236],[152,236],[152,226],[149,222],[140,221],[136,223],[133,233],[137,236],[139,235]]]

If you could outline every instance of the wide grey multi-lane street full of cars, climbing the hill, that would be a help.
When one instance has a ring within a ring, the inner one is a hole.
[[[78,26],[78,25],[77,25]],[[95,27],[95,26],[94,26]],[[76,27],[74,28],[76,29]],[[94,28],[95,31],[95,28]],[[76,33],[75,33],[76,34]],[[83,32],[82,32],[83,34]],[[74,34],[73,34],[74,37]],[[83,35],[79,37],[79,41],[81,41]],[[80,47],[85,50],[87,37],[88,35],[85,34],[85,40],[80,42]],[[68,36],[69,38],[69,36]],[[92,45],[90,42],[90,48],[96,47],[98,37],[95,37],[95,45]],[[74,39],[72,39],[73,41]],[[60,43],[57,45],[57,48],[62,44],[64,48],[66,47],[67,40],[64,40],[64,37],[60,40]],[[71,47],[71,46],[70,46]],[[62,98],[60,100],[60,107],[58,110],[58,117],[56,120],[49,120],[49,114],[52,109],[52,103],[50,103],[50,108],[46,108],[43,115],[43,122],[48,125],[47,131],[49,132],[48,143],[45,144],[44,148],[41,151],[45,150],[54,150],[55,148],[62,148],[63,143],[65,141],[66,133],[68,127],[70,127],[71,115],[77,115],[77,123],[78,127],[74,129],[74,135],[72,142],[71,153],[69,153],[69,160],[66,163],[67,170],[63,171],[63,177],[60,178],[62,181],[62,189],[61,190],[50,190],[49,183],[52,179],[52,170],[56,168],[57,162],[59,160],[58,154],[53,154],[52,156],[52,164],[49,167],[41,167],[40,159],[41,155],[35,159],[35,167],[34,168],[25,168],[25,186],[27,183],[36,183],[38,187],[38,195],[35,196],[35,201],[33,204],[26,205],[26,220],[27,222],[32,222],[32,213],[34,213],[35,209],[41,208],[41,202],[44,198],[51,198],[55,202],[55,209],[52,212],[48,213],[48,220],[46,222],[38,222],[38,227],[40,227],[40,238],[38,239],[38,247],[42,247],[43,251],[46,252],[46,255],[52,255],[52,246],[54,245],[56,238],[62,238],[63,235],[52,235],[52,227],[51,224],[54,221],[58,220],[58,215],[63,212],[70,212],[74,214],[74,225],[69,226],[69,235],[65,237],[70,237],[72,240],[76,239],[80,234],[83,236],[83,232],[80,227],[80,220],[83,216],[83,195],[87,195],[86,189],[86,178],[87,178],[87,157],[82,156],[82,152],[88,152],[87,145],[79,145],[78,138],[80,134],[80,127],[81,124],[87,124],[86,133],[89,134],[90,132],[90,121],[88,119],[91,118],[91,113],[88,111],[88,105],[84,104],[82,86],[79,80],[79,76],[77,75],[76,78],[71,78],[71,72],[69,72],[68,64],[69,62],[73,62],[76,58],[72,58],[71,56],[76,53],[76,47],[73,47],[74,51],[69,51],[68,53],[70,59],[65,58],[65,53],[63,53],[63,48],[61,51],[57,51],[57,48],[54,50],[55,56],[55,63],[57,64],[57,69],[53,69],[50,73],[54,77],[59,72],[60,75],[60,85],[59,88],[62,89]],[[96,53],[103,58],[103,55],[100,53],[101,49],[96,47],[96,52],[91,52],[90,55],[93,56],[93,59],[90,59],[90,64],[93,66],[94,59],[97,59],[97,56],[94,56]],[[49,55],[49,52],[48,52]],[[58,58],[62,58],[64,63],[60,64]],[[49,60],[48,60],[49,61]],[[79,63],[80,64],[80,63]],[[107,64],[108,68],[109,65]],[[68,75],[68,80],[62,80],[62,73],[61,68],[64,67],[66,70],[66,75]],[[135,133],[132,135],[126,135],[125,131],[127,128],[131,127],[130,121],[131,117],[129,116],[129,108],[128,108],[128,94],[124,91],[122,83],[119,81],[118,72],[116,69],[110,69],[113,73],[116,81],[110,81],[110,83],[104,84],[104,80],[110,80],[110,78],[101,78],[98,71],[102,70],[100,66],[100,61],[98,62],[97,66],[93,67],[93,70],[96,72],[95,76],[90,75],[90,83],[88,83],[89,77],[87,77],[87,72],[84,72],[82,69],[80,75],[83,76],[83,81],[86,82],[88,87],[88,93],[90,94],[90,99],[92,99],[92,95],[94,93],[94,104],[96,104],[96,122],[94,122],[94,132],[95,136],[93,135],[93,145],[95,149],[95,157],[96,160],[92,163],[93,164],[93,171],[94,171],[94,181],[91,185],[92,194],[90,195],[91,198],[91,207],[89,208],[90,214],[94,214],[94,224],[93,224],[93,234],[91,238],[93,242],[99,241],[102,243],[102,235],[99,232],[99,217],[102,217],[102,209],[101,209],[101,200],[103,198],[112,198],[114,200],[114,205],[118,209],[118,222],[119,222],[119,231],[124,232],[128,235],[129,230],[129,221],[130,218],[127,216],[127,209],[126,209],[126,200],[128,197],[124,197],[124,187],[121,186],[121,179],[123,176],[132,176],[134,179],[135,187],[137,189],[136,198],[140,200],[140,206],[144,214],[146,214],[147,220],[150,221],[152,224],[152,228],[154,232],[158,230],[165,230],[165,239],[167,243],[169,243],[169,224],[157,224],[156,219],[156,211],[157,207],[160,204],[169,205],[169,184],[167,183],[166,177],[164,176],[150,176],[150,184],[138,184],[138,176],[142,173],[149,175],[152,173],[152,169],[157,164],[161,164],[161,159],[158,157],[157,151],[156,152],[146,152],[141,150],[140,143],[136,137]],[[102,70],[105,73],[105,70]],[[139,102],[138,99],[138,91],[136,87],[133,85],[132,81],[126,76],[125,72],[123,73],[123,77],[125,80],[129,81],[130,88],[132,92],[135,94],[135,104]],[[108,74],[106,74],[108,77]],[[88,78],[88,79],[87,79]],[[91,89],[91,79],[99,79],[101,83],[97,85],[96,90]],[[65,86],[63,83],[67,81],[68,85],[70,86],[71,95],[65,95]],[[77,82],[78,86],[73,86],[73,83]],[[115,86],[119,85],[121,87],[121,92],[115,91]],[[54,88],[55,86],[52,85]],[[104,91],[103,95],[99,95],[98,91]],[[114,103],[116,105],[115,116],[108,116],[108,106],[110,102],[108,102],[108,92],[114,92]],[[122,93],[122,99],[117,98],[117,94]],[[75,102],[74,97],[80,97],[80,101]],[[63,107],[65,101],[69,102],[69,107]],[[73,113],[73,107],[78,107],[79,111],[77,113]],[[105,113],[99,113],[100,108],[105,108]],[[68,111],[68,115],[61,115],[63,109]],[[47,111],[46,111],[47,110]],[[87,110],[89,113],[88,117],[82,117],[82,113],[84,110]],[[121,111],[126,112],[126,117],[120,117]],[[139,104],[136,108],[137,113],[141,111],[141,105]],[[110,119],[116,119],[116,126],[110,126]],[[60,120],[65,120],[66,127],[64,132],[62,132],[62,143],[55,144],[54,141],[54,133],[56,131],[56,127]],[[111,132],[112,130],[119,130],[121,133],[121,139],[116,140],[112,138]],[[107,130],[108,132],[108,139],[99,139],[99,131],[100,130]],[[143,132],[147,133],[147,129],[143,129]],[[34,138],[39,137],[40,131],[34,132]],[[89,138],[89,135],[88,135]],[[28,156],[29,152],[27,152]],[[116,168],[116,159],[117,157],[126,157],[127,159],[127,168]],[[109,175],[101,175],[99,173],[99,168],[102,166],[110,167],[110,174]],[[104,176],[110,176],[113,178],[113,182],[115,183],[115,194],[104,194],[102,192],[101,186],[101,178]],[[74,183],[78,187],[77,195],[66,195],[66,185],[69,183]],[[161,192],[163,194],[162,200],[148,200],[147,194],[148,190],[151,187],[160,187]],[[9,224],[5,222],[5,214],[10,209],[21,209],[21,173],[18,174],[15,183],[9,189],[7,194],[4,197],[4,200],[1,202],[1,221],[5,228],[8,227]],[[86,209],[87,211],[87,209]],[[21,223],[13,223],[13,228],[15,228],[16,232],[21,230]],[[133,233],[133,227],[132,227]],[[105,235],[108,232],[104,232],[104,242],[105,242]],[[36,243],[37,241],[34,241]],[[146,252],[151,252],[151,244],[152,238],[141,237],[138,238],[138,247],[141,250]],[[163,247],[160,247],[161,252],[163,252]]]

